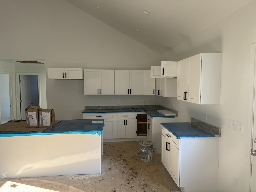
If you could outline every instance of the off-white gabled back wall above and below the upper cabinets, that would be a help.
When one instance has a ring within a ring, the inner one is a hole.
[[[3,0],[0,17],[4,18],[0,26],[5,26],[1,28],[5,46],[0,46],[0,59],[45,59],[46,68],[146,70],[159,58],[66,1]],[[47,108],[55,109],[56,119],[81,119],[84,106],[91,105],[92,100],[95,105],[116,105],[117,100],[141,104],[142,98],[145,104],[160,103],[159,97],[150,96],[132,100],[125,96],[85,96],[82,80],[46,79],[46,92]]]

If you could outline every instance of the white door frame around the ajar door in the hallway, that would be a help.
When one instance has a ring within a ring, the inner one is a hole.
[[[16,115],[17,115],[17,120],[21,120],[21,115],[20,115],[20,82],[19,82],[19,76],[20,75],[37,75],[38,76],[38,95],[39,95],[39,106],[41,106],[41,88],[40,88],[40,73],[16,73]]]

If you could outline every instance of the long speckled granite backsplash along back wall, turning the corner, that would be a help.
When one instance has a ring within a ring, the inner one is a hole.
[[[178,111],[169,109],[162,105],[115,105],[115,106],[84,106],[84,109],[157,109],[157,110],[170,110],[173,113],[176,113],[178,116]]]

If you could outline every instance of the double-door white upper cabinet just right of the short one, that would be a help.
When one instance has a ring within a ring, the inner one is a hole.
[[[114,70],[84,69],[85,95],[114,95]]]

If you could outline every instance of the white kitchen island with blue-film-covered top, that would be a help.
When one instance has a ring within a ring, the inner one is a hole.
[[[97,120],[63,120],[43,132],[0,132],[0,178],[101,174]],[[1,130],[0,130],[1,131]]]

